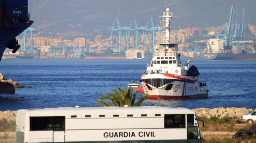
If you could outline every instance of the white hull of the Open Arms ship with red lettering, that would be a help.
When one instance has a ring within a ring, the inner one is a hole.
[[[198,99],[207,98],[207,86],[200,82],[189,82],[164,74],[143,75],[141,84],[148,99]]]

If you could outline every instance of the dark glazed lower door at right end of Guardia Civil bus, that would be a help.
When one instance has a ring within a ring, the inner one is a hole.
[[[187,126],[188,143],[199,143],[199,132],[197,126]]]

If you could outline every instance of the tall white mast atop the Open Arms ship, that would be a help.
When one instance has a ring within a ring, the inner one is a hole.
[[[175,37],[175,30],[171,32],[171,19],[173,16],[172,12],[169,12],[169,8],[166,9],[166,12],[163,13],[163,37],[161,37],[160,45],[163,46],[164,49],[168,50],[169,48],[174,49],[175,53],[178,52],[178,44],[180,44],[179,40]],[[177,54],[177,53],[176,53]]]

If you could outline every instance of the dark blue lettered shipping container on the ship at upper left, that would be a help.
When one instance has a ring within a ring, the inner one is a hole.
[[[6,18],[28,18],[28,7],[6,6]]]

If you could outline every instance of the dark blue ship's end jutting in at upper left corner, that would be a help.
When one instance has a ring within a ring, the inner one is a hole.
[[[15,53],[20,45],[15,38],[26,30],[33,21],[29,20],[28,0],[0,1],[0,61],[5,48]]]

